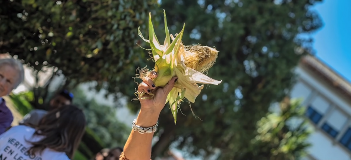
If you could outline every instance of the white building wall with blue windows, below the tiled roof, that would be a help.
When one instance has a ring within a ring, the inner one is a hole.
[[[351,160],[350,150],[339,142],[351,125],[351,105],[303,68],[298,67],[296,73],[299,75],[299,81],[290,96],[303,98],[304,106],[311,107],[321,115],[320,118],[318,115],[309,118],[310,128],[314,132],[308,139],[312,146],[308,150],[309,156],[305,159]]]

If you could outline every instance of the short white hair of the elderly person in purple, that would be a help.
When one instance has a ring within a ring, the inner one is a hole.
[[[14,84],[13,88],[17,88],[24,80],[24,68],[23,68],[23,64],[14,59],[14,58],[4,58],[4,59],[0,59],[0,68],[4,65],[9,65],[11,67],[13,67],[15,70],[17,70],[18,73],[18,79],[16,81],[16,83]]]

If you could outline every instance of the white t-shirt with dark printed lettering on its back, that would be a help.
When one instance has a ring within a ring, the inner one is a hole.
[[[0,135],[0,160],[69,160],[64,152],[57,152],[46,148],[40,155],[29,155],[32,146],[28,141],[39,141],[42,136],[32,136],[34,128],[18,125]]]

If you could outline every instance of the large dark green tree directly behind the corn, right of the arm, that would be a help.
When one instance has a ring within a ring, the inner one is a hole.
[[[178,114],[177,125],[172,124],[170,111],[164,110],[153,156],[165,153],[173,142],[192,155],[228,151],[219,157],[226,160],[251,152],[256,122],[272,102],[285,97],[300,58],[313,53],[312,40],[300,35],[322,26],[318,14],[309,9],[317,2],[162,0],[171,33],[178,33],[185,22],[184,44],[200,43],[219,50],[208,75],[222,79],[223,84],[204,89],[191,104],[203,121],[191,114],[187,103],[180,106],[187,116]],[[162,26],[157,26],[159,33]]]

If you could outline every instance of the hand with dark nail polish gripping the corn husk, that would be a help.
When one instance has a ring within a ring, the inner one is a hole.
[[[163,107],[166,104],[166,99],[168,93],[174,87],[174,83],[177,81],[178,77],[173,77],[168,84],[165,85],[164,88],[155,87],[152,82],[152,78],[156,78],[158,76],[157,72],[151,71],[150,76],[145,77],[143,82],[138,86],[138,92],[141,93],[153,93],[154,96],[151,95],[143,95],[143,97],[139,96],[141,110],[146,110],[148,112],[160,113]],[[152,78],[151,78],[152,77]]]

